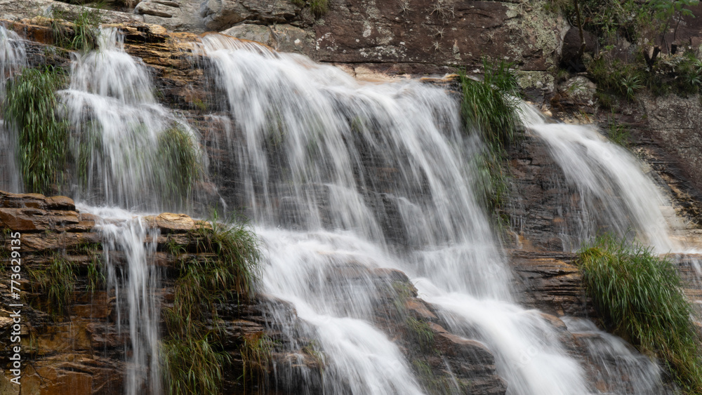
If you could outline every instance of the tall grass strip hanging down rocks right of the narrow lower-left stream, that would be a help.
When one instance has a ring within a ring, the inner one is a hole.
[[[253,296],[260,272],[258,239],[246,222],[220,224],[216,213],[190,237],[198,257],[185,254],[175,241],[165,246],[176,255],[178,278],[173,307],[164,309],[164,378],[171,394],[216,394],[230,363],[220,342],[217,308]],[[270,349],[263,335],[242,339],[240,351],[249,376],[267,366]]]

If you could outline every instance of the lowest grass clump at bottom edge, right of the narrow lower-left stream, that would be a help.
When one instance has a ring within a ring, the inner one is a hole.
[[[161,342],[166,388],[172,395],[219,394],[230,355],[210,336]]]

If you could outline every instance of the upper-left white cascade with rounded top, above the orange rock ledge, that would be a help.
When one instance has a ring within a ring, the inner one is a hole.
[[[116,29],[102,30],[99,47],[74,55],[71,84],[61,92],[74,130],[76,175],[86,184],[77,198],[141,211],[173,207],[164,192],[172,169],[162,161],[161,135],[180,128],[199,150],[198,138],[154,100],[147,69],[124,52]]]

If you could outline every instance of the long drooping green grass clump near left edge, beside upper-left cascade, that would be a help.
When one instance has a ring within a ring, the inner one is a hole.
[[[57,114],[56,91],[65,76],[57,69],[25,69],[7,83],[3,115],[17,130],[26,192],[58,192],[67,163],[68,123]]]

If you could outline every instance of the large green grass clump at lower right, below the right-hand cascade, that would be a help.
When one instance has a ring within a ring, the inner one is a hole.
[[[585,246],[580,262],[585,287],[607,325],[662,359],[687,393],[702,393],[700,335],[673,262],[611,234]]]

